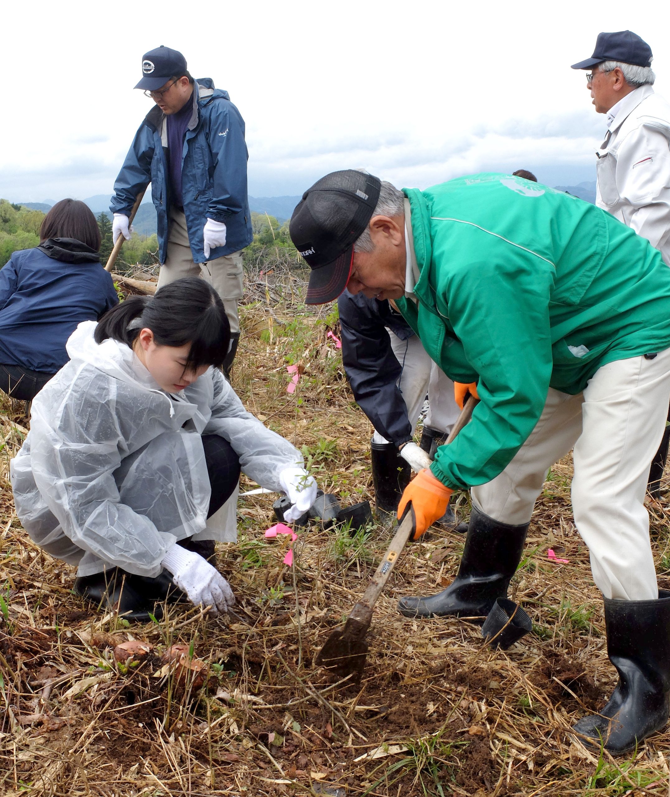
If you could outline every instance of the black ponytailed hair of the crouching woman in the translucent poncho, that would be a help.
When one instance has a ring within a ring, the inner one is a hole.
[[[117,304],[98,322],[96,343],[113,338],[132,347],[143,328],[151,329],[159,346],[190,344],[186,371],[220,366],[228,354],[230,324],[223,302],[201,277],[183,277],[155,296],[131,296]]]

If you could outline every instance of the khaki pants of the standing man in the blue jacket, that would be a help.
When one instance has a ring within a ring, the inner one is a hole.
[[[182,277],[198,275],[208,281],[221,296],[230,332],[240,332],[237,301],[242,297],[242,253],[233,252],[207,263],[194,263],[186,230],[186,216],[182,210],[173,208],[170,210],[167,257],[160,269],[158,287],[163,288],[163,285]]]

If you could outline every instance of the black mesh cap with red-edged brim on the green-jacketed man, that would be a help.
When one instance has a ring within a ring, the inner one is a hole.
[[[303,194],[291,217],[291,240],[311,268],[307,304],[337,299],[349,281],[354,242],[365,230],[382,183],[374,175],[331,171]]]

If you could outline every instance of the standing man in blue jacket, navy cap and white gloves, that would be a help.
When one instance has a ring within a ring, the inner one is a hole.
[[[229,371],[240,338],[241,249],[253,234],[247,196],[245,122],[228,92],[194,80],[182,53],[158,47],[142,60],[135,88],[155,102],[114,184],[113,238],[130,238],[131,209],[151,182],[158,214],[159,288],[201,274],[223,300],[231,332]]]

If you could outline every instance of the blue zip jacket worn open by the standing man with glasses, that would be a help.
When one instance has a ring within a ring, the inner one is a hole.
[[[158,215],[159,258],[167,257],[170,191],[167,170],[166,116],[156,105],[147,114],[114,183],[110,210],[130,216],[137,194],[151,182],[151,198]],[[252,239],[247,195],[245,122],[228,92],[214,88],[209,77],[197,80],[191,116],[182,151],[184,214],[194,263],[206,262],[202,228],[207,218],[224,222],[225,246],[217,246],[210,260],[237,252]]]

